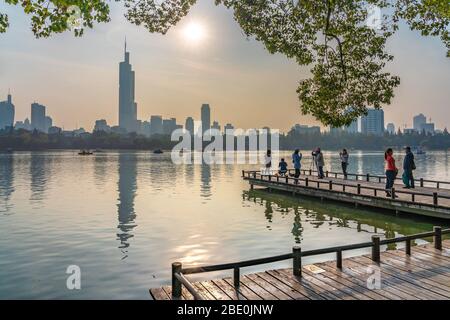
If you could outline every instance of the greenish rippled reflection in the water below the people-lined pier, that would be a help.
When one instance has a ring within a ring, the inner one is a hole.
[[[357,232],[383,235],[386,238],[430,231],[434,225],[433,221],[421,217],[408,216],[408,219],[404,219],[400,215],[375,211],[368,214],[367,210],[334,202],[291,197],[264,190],[244,191],[242,197],[245,201],[265,208],[264,216],[268,229],[271,229],[278,214],[292,218],[291,233],[296,243],[301,243],[306,224],[315,229],[326,229],[323,230],[324,235],[331,228],[349,228]],[[397,244],[389,245],[388,248],[396,249]]]

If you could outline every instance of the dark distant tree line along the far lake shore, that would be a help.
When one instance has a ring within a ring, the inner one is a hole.
[[[225,139],[224,139],[225,140]],[[0,150],[45,150],[45,149],[172,149],[178,141],[168,135],[146,137],[136,133],[94,132],[81,135],[46,134],[19,130],[0,130]],[[235,142],[236,145],[236,142]],[[248,141],[246,141],[248,145]],[[364,135],[360,133],[296,133],[294,130],[280,135],[280,149],[296,148],[312,150],[316,147],[337,150],[342,148],[381,150],[387,147],[420,146],[425,149],[450,149],[450,134],[447,130],[439,134],[411,133]],[[224,147],[225,149],[225,147]]]

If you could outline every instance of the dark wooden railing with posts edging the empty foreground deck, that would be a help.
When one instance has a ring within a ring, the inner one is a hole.
[[[203,300],[203,297],[197,292],[194,285],[187,279],[185,275],[198,274],[204,272],[233,270],[233,283],[235,288],[239,288],[240,285],[240,269],[250,266],[257,266],[261,264],[268,264],[273,262],[280,262],[292,259],[292,268],[294,276],[302,276],[302,258],[317,256],[322,254],[336,254],[336,267],[342,269],[342,253],[344,251],[372,248],[372,261],[375,263],[380,262],[381,246],[392,243],[405,243],[405,252],[407,255],[411,255],[411,245],[413,240],[433,237],[434,248],[442,250],[442,235],[450,234],[450,229],[442,230],[441,227],[434,227],[431,232],[418,233],[409,236],[383,239],[380,236],[373,235],[372,241],[350,244],[337,247],[329,247],[324,249],[314,249],[308,251],[302,251],[300,246],[294,246],[291,253],[282,254],[278,256],[266,257],[261,259],[240,261],[234,263],[217,264],[203,267],[183,268],[180,262],[172,263],[172,298],[181,299],[182,287],[184,286],[196,300]]]

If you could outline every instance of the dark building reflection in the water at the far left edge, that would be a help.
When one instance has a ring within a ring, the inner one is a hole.
[[[14,158],[12,154],[0,155],[0,213],[13,208],[9,202],[14,192]]]

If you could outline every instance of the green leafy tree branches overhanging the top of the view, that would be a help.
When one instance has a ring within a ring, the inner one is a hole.
[[[95,22],[109,21],[104,0],[5,0],[31,15],[37,37],[73,28],[75,35]],[[116,0],[126,18],[150,32],[165,34],[197,0]],[[372,106],[390,104],[399,77],[384,71],[393,56],[386,41],[401,20],[424,36],[439,36],[450,57],[448,0],[215,0],[234,12],[248,37],[271,53],[311,66],[297,93],[303,114],[324,125],[349,125]],[[383,10],[384,14],[381,14]],[[0,32],[8,17],[0,15]]]

